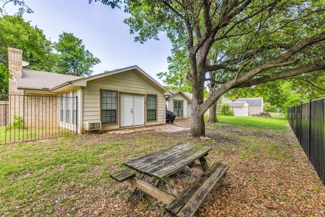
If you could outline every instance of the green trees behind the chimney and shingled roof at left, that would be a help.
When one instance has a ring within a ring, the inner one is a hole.
[[[14,1],[6,1],[9,2]],[[59,41],[53,44],[42,29],[31,26],[19,14],[0,13],[0,44],[0,94],[8,94],[8,47],[23,50],[23,60],[29,63],[26,69],[87,76],[93,72],[92,67],[100,63],[72,33],[61,34]]]

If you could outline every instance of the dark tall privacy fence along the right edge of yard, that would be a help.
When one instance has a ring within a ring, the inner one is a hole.
[[[325,98],[288,107],[288,121],[325,184]]]

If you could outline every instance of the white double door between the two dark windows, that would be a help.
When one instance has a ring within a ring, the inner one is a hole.
[[[121,94],[120,126],[144,125],[144,97]]]

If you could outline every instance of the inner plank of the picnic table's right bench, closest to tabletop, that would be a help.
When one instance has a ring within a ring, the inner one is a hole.
[[[216,163],[208,168],[196,181],[194,181],[189,187],[180,193],[176,199],[166,206],[166,210],[171,212],[172,214],[176,215],[179,210],[187,203],[190,197],[198,191],[201,185],[210,177],[219,167],[221,166],[220,163]]]

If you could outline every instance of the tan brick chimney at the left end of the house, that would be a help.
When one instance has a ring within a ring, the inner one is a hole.
[[[16,79],[22,77],[22,50],[8,48],[8,69],[12,78],[9,79],[9,94],[21,94],[17,89]]]

